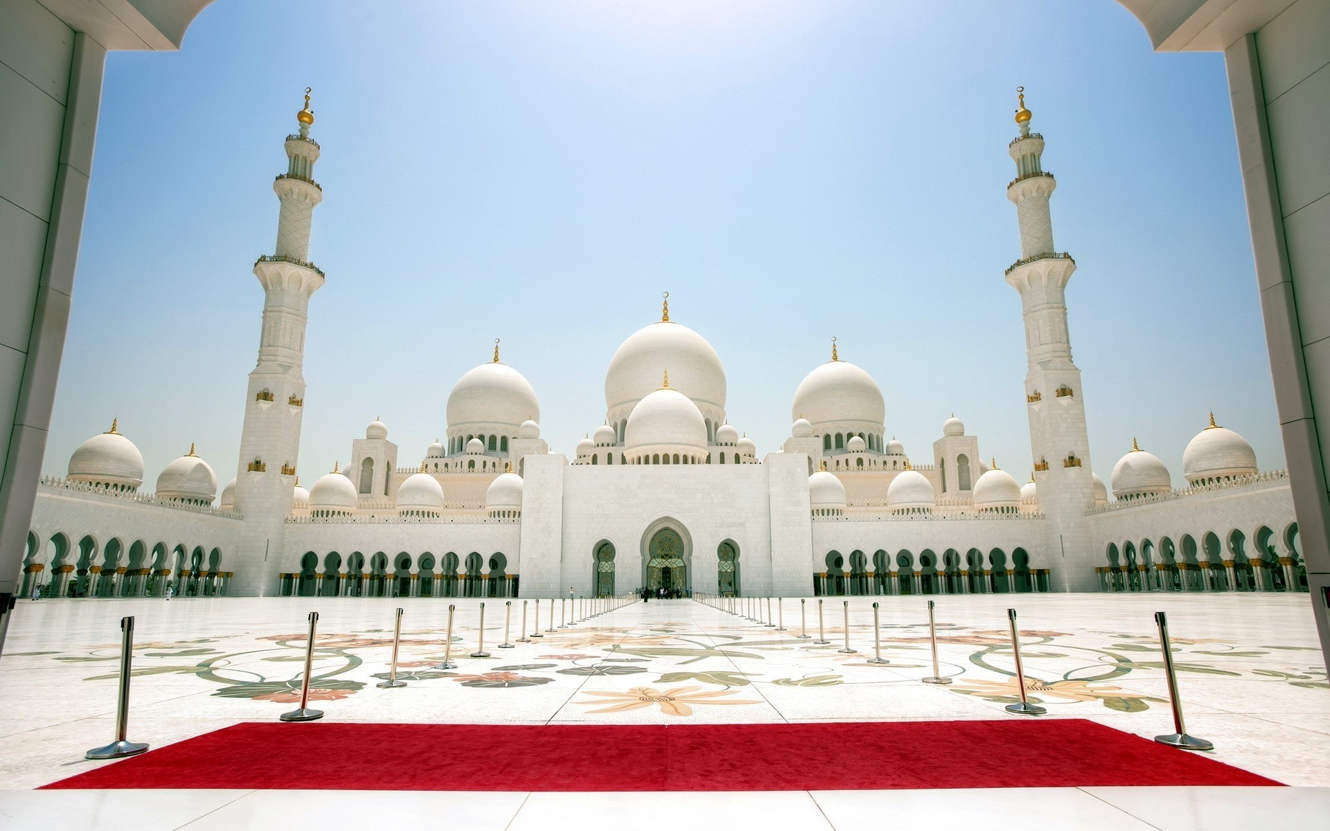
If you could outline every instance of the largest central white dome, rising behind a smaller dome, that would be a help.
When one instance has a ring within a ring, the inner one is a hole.
[[[680,323],[661,320],[620,344],[605,372],[605,407],[641,402],[670,375],[670,388],[698,407],[725,410],[725,367],[705,338]]]

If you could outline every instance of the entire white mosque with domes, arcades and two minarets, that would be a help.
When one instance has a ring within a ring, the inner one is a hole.
[[[1132,447],[1108,487],[1091,472],[1080,370],[1053,246],[1044,138],[1020,97],[1007,186],[1020,258],[1005,271],[1025,320],[1031,480],[984,464],[960,419],[928,452],[888,439],[882,391],[842,360],[794,392],[790,437],[761,455],[725,412],[720,355],[660,319],[605,375],[605,421],[572,459],[541,439],[540,404],[500,359],[463,375],[446,437],[406,457],[375,420],[346,468],[297,477],[305,327],[323,273],[309,262],[323,198],[306,94],[235,477],[217,493],[194,448],[145,495],[144,459],[112,423],[37,493],[24,593],[105,597],[305,594],[608,596],[638,586],[749,596],[1049,590],[1307,590],[1289,484],[1210,417],[1184,453],[1184,489]],[[1204,423],[1204,421],[1202,421]],[[403,464],[404,463],[404,464]],[[1112,492],[1112,493],[1111,493]]]

